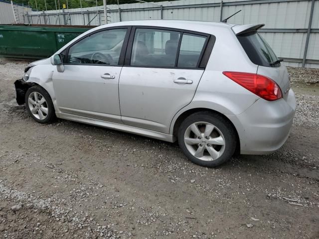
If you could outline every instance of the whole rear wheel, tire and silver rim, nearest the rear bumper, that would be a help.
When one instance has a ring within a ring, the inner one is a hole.
[[[178,143],[187,158],[204,167],[216,167],[229,160],[236,149],[231,123],[218,114],[190,115],[178,130]]]

